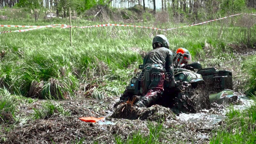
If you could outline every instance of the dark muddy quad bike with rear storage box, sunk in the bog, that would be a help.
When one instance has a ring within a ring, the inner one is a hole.
[[[213,102],[230,103],[237,100],[237,96],[234,96],[232,91],[231,71],[202,68],[199,62],[181,65],[184,57],[188,57],[188,54],[176,53],[174,56],[174,78],[177,85],[170,86],[169,76],[166,73],[164,93],[155,104],[171,108],[174,113],[179,114],[209,109]],[[139,69],[143,71],[143,65],[140,65]],[[120,101],[132,101],[135,97],[140,99],[143,96],[140,93],[142,71],[132,78]]]

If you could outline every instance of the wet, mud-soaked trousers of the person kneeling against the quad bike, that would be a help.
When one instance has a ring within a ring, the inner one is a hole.
[[[154,104],[164,91],[165,72],[163,69],[152,68],[144,72],[141,81],[141,93],[146,94],[135,105],[148,107]]]

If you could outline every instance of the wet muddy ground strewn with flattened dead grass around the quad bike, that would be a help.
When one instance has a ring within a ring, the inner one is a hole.
[[[248,53],[248,51],[238,50],[235,49],[237,59],[226,61],[226,64],[221,64],[216,68],[231,70],[234,89],[240,92],[240,85],[245,81],[241,74],[239,58],[242,55],[255,54],[255,51],[252,49]],[[207,59],[204,62],[210,66],[212,64],[207,62]],[[61,104],[64,111],[70,111],[70,116],[54,113],[45,119],[36,120],[31,118],[34,113],[33,108],[42,108],[42,103],[46,100],[37,100],[31,104],[20,103],[19,112],[16,113],[19,120],[10,117],[8,123],[2,124],[0,143],[44,144],[79,143],[82,141],[83,143],[115,143],[116,136],[126,140],[134,132],[148,135],[148,120],[109,118],[114,111],[114,104],[118,100],[118,96],[106,100],[92,100],[82,96],[76,100],[52,101],[53,104]],[[241,98],[236,108],[243,109],[250,106],[251,102]],[[159,143],[208,143],[214,134],[213,130],[218,129],[218,126],[223,123],[228,106],[214,103],[211,107],[211,109],[202,110],[197,114],[180,114],[180,116],[172,115],[168,108],[159,105],[151,107],[151,111],[154,111],[150,120],[152,123],[158,124],[157,119],[161,119],[165,114]],[[87,123],[78,119],[88,116],[106,117],[106,120],[100,123]]]

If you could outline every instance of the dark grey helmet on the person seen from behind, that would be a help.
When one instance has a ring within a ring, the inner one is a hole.
[[[152,46],[153,49],[155,49],[158,46],[169,49],[169,41],[164,35],[157,35],[153,38]]]

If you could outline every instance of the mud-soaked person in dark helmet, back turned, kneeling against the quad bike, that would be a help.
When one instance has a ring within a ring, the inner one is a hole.
[[[164,35],[157,35],[152,41],[153,50],[147,53],[143,59],[144,69],[140,77],[140,93],[143,98],[135,105],[147,107],[159,99],[164,91],[165,72],[170,73],[170,85],[175,86],[173,76],[173,55],[169,50],[169,41]]]

